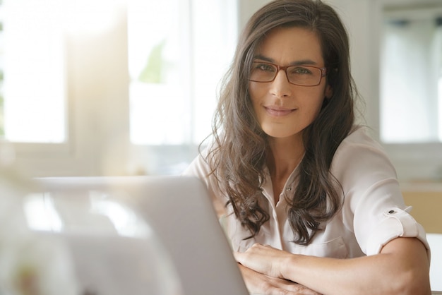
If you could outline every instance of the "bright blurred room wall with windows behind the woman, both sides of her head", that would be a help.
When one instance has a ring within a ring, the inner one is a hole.
[[[240,30],[268,0],[1,0],[0,138],[30,176],[180,174]],[[442,1],[325,0],[359,121],[403,183],[442,180]],[[436,184],[434,184],[436,183]]]

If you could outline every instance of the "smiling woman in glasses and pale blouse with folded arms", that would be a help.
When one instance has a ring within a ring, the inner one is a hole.
[[[220,93],[215,140],[184,172],[207,184],[253,293],[430,292],[424,229],[354,125],[349,55],[321,1],[261,8]]]

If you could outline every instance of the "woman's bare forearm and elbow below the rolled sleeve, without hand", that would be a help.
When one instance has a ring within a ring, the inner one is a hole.
[[[430,294],[424,246],[417,239],[400,240],[362,258],[291,255],[281,264],[281,277],[323,294]]]

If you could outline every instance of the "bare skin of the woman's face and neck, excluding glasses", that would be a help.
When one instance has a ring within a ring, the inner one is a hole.
[[[270,32],[258,47],[255,61],[280,66],[324,66],[316,33],[303,28],[277,28]],[[269,136],[272,157],[267,164],[277,203],[289,174],[304,155],[302,131],[316,119],[323,100],[331,96],[332,90],[325,77],[319,85],[306,87],[290,84],[285,71],[279,71],[273,82],[250,82],[249,91],[256,118]]]

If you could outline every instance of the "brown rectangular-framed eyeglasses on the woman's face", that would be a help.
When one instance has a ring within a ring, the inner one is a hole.
[[[325,68],[316,66],[278,66],[277,64],[256,61],[252,63],[249,80],[272,82],[280,71],[285,71],[290,84],[300,86],[319,85],[321,79],[326,75]]]

